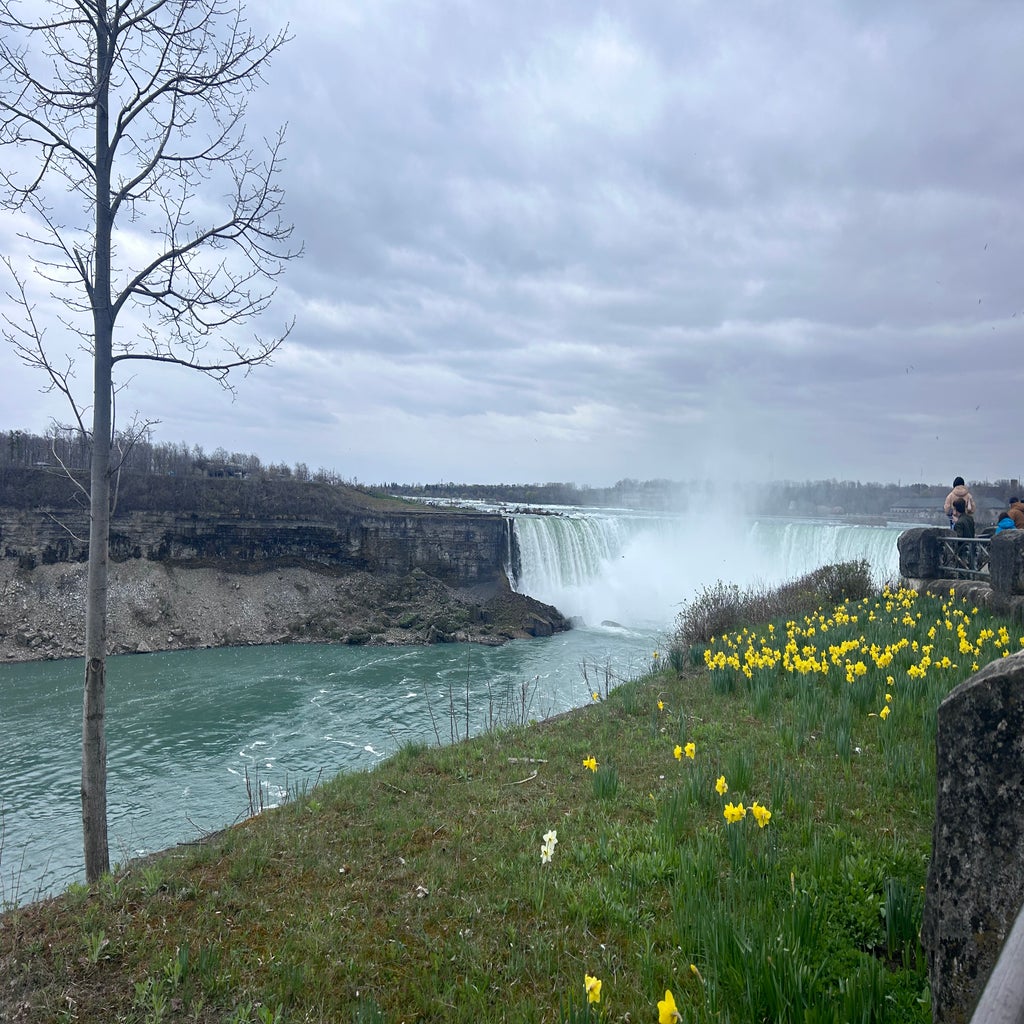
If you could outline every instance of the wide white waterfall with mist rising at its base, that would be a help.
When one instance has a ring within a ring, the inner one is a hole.
[[[861,558],[880,584],[899,574],[898,525],[623,509],[510,518],[519,549],[516,590],[588,626],[670,626],[683,601],[718,580],[772,586]]]

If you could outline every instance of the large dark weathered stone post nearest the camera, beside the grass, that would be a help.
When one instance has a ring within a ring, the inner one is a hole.
[[[1024,651],[942,701],[936,761],[922,942],[933,1020],[966,1024],[1024,901]]]

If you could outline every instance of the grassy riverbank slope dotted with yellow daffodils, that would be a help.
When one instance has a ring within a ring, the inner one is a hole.
[[[965,620],[972,651],[943,666]],[[935,709],[1018,649],[1000,625],[951,598],[858,602],[790,623],[824,672],[783,666],[779,622],[559,718],[411,744],[8,910],[0,1019],[653,1021],[671,989],[686,1022],[926,1024]],[[744,653],[772,643],[777,664]],[[709,668],[733,650],[764,664]]]

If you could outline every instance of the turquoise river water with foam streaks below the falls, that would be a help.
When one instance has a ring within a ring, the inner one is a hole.
[[[413,740],[544,718],[591,699],[605,668],[649,668],[664,635],[581,629],[503,647],[292,644],[108,663],[111,859],[196,840],[322,775]],[[0,903],[83,877],[80,660],[0,666]],[[588,683],[588,678],[590,683]],[[455,705],[455,717],[451,712]],[[248,775],[248,782],[247,782]]]

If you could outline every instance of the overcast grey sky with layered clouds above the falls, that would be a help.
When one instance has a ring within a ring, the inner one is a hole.
[[[1024,4],[248,13],[294,36],[249,126],[288,124],[305,255],[259,329],[296,325],[233,402],[138,373],[158,440],[371,483],[1024,474]],[[0,427],[68,419],[0,375]]]

